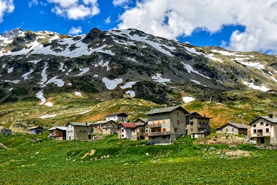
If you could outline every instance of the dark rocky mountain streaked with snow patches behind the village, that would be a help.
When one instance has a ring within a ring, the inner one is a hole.
[[[2,104],[32,100],[52,106],[54,94],[64,93],[98,102],[225,103],[250,101],[253,91],[277,107],[275,55],[197,47],[136,29],[93,28],[71,36],[18,28],[0,36]]]

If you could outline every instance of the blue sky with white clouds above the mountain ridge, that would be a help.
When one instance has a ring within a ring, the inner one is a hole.
[[[0,33],[136,28],[197,46],[277,53],[273,0],[0,0]]]

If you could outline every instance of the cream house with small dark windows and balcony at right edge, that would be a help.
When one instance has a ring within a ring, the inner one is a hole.
[[[248,137],[256,143],[277,143],[277,118],[272,114],[256,117],[248,123]]]

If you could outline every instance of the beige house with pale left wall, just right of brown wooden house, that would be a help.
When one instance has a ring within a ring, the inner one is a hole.
[[[89,125],[87,123],[69,122],[66,125],[66,140],[88,139]]]

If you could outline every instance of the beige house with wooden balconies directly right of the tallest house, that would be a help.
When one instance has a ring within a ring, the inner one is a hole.
[[[189,122],[186,123],[186,133],[187,135],[202,133],[204,130],[208,129],[209,132],[205,131],[205,133],[210,134],[210,119],[206,117],[206,115],[202,116],[199,113],[192,112],[187,115],[189,118]]]

